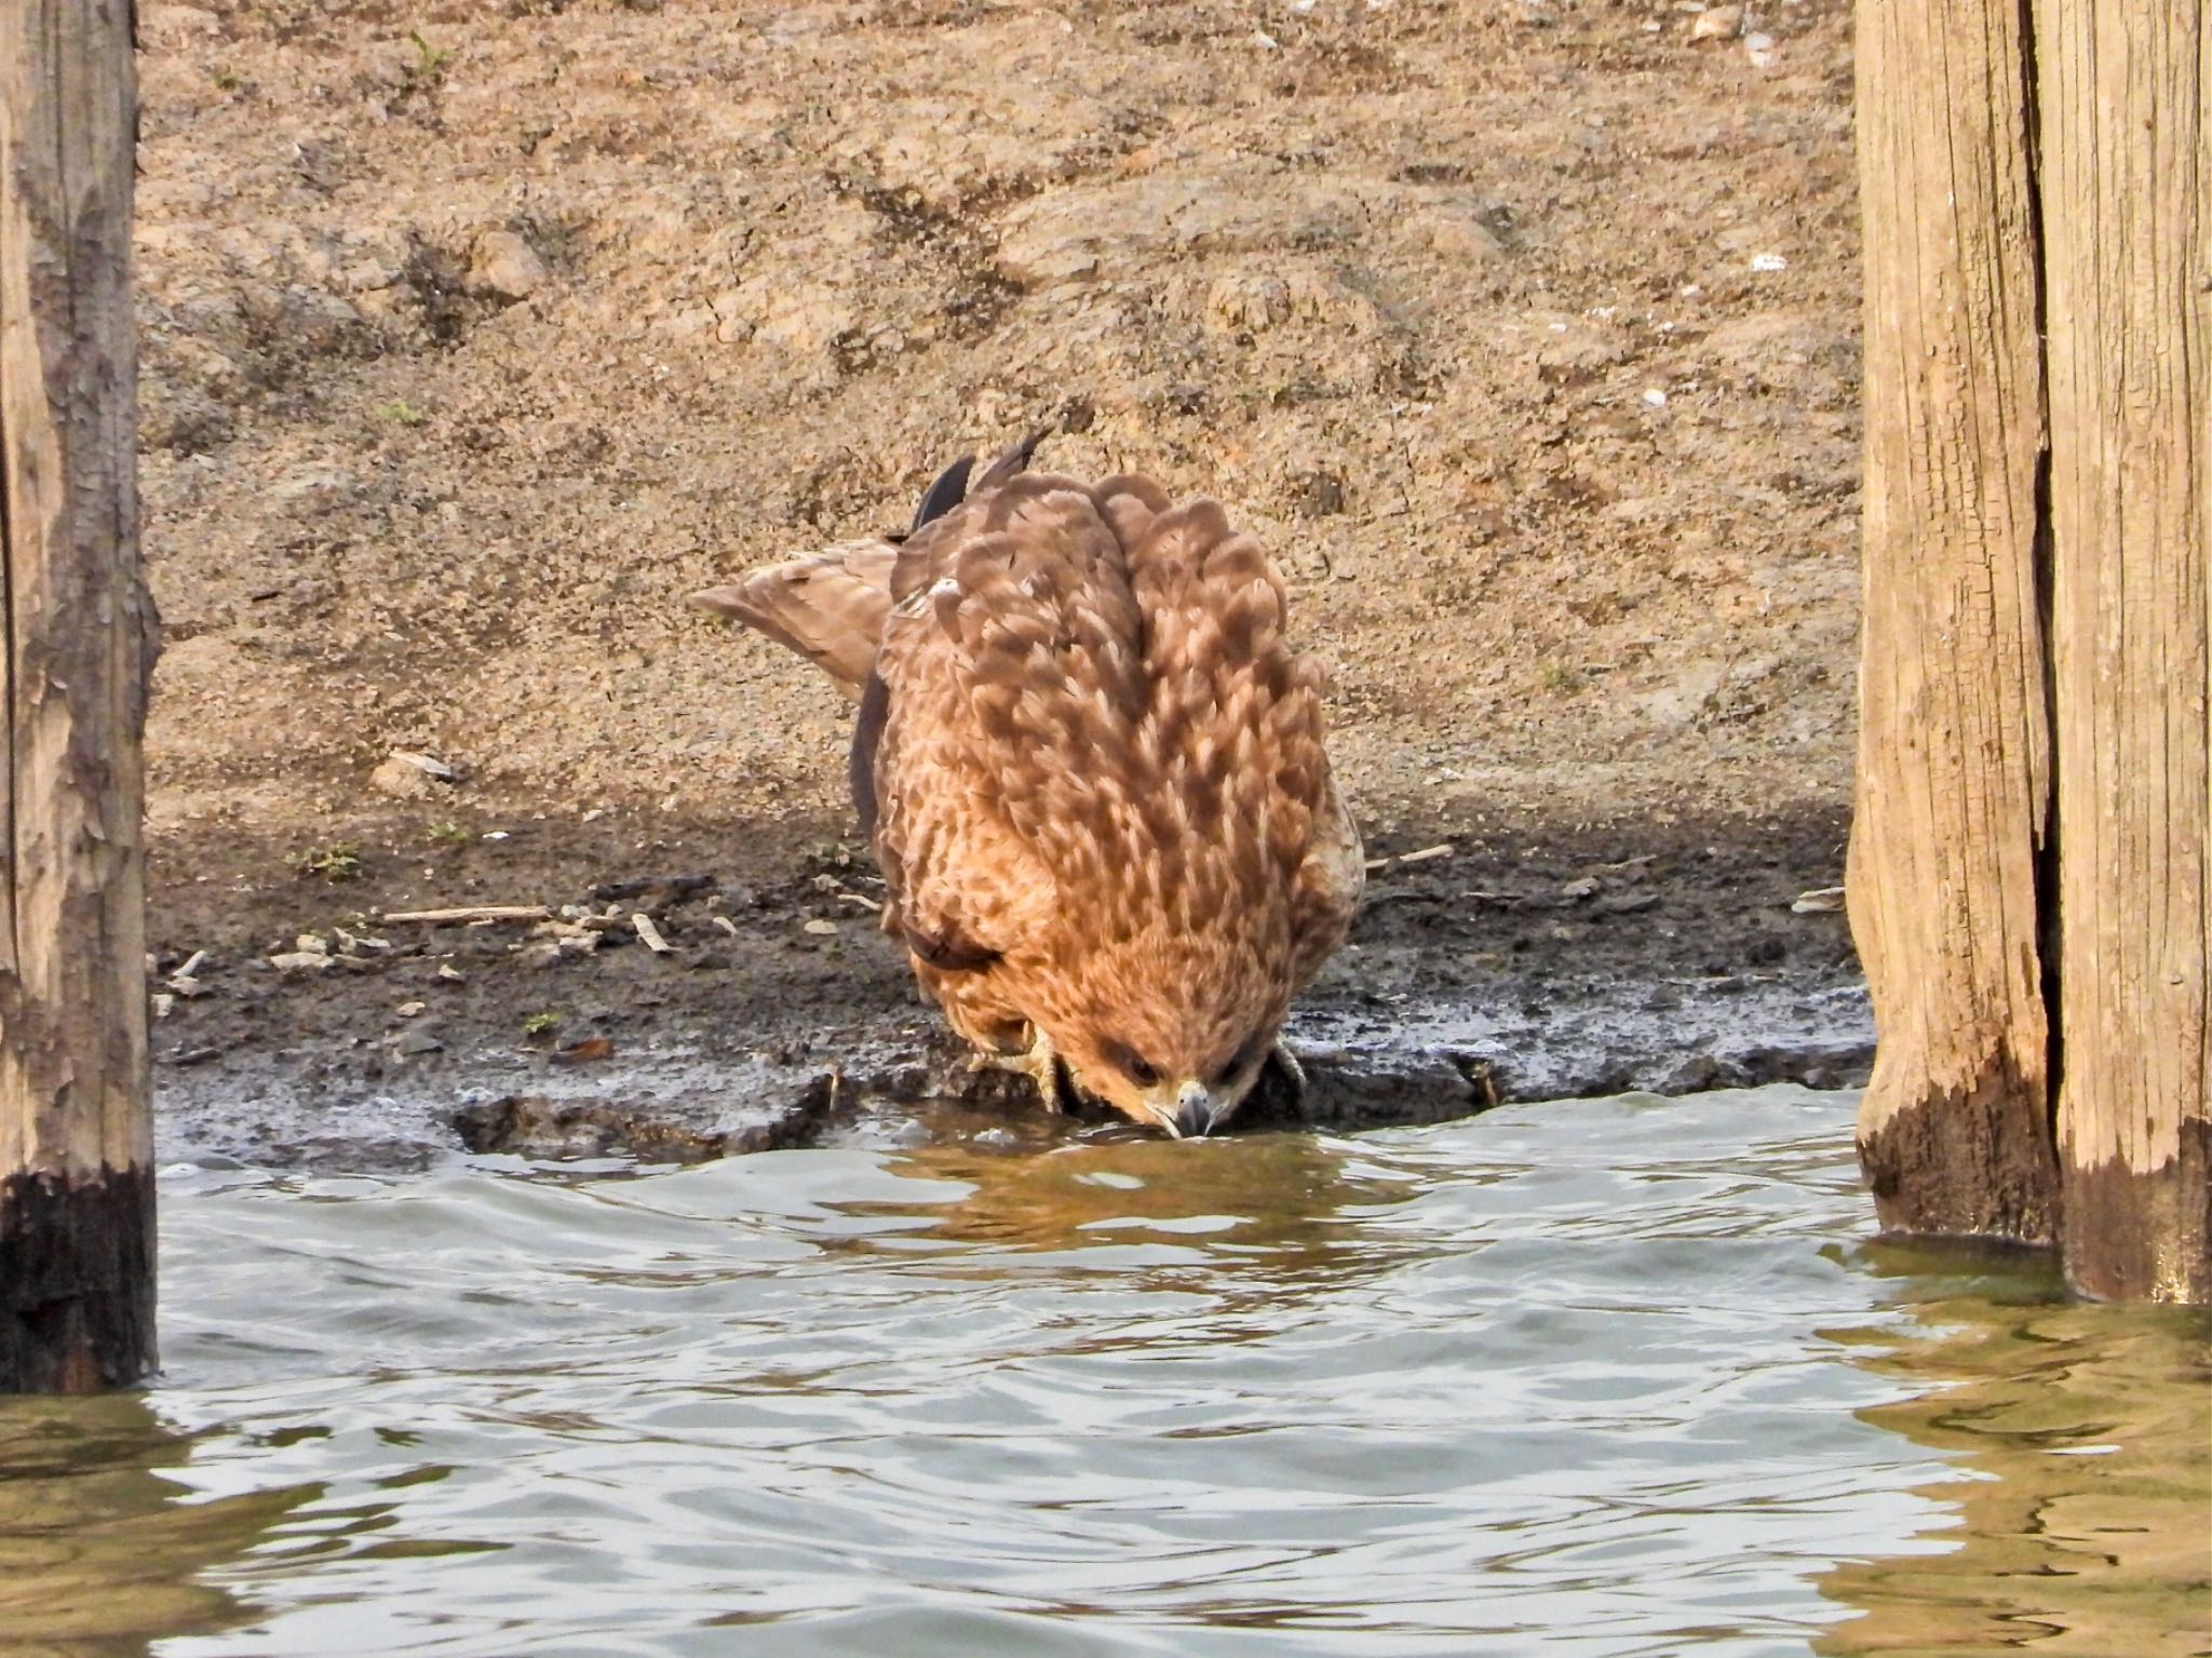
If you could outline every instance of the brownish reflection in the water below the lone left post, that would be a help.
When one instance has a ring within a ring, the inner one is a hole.
[[[0,1399],[0,1651],[124,1658],[252,1609],[204,1572],[241,1559],[303,1490],[181,1503],[190,1446],[144,1397]]]

